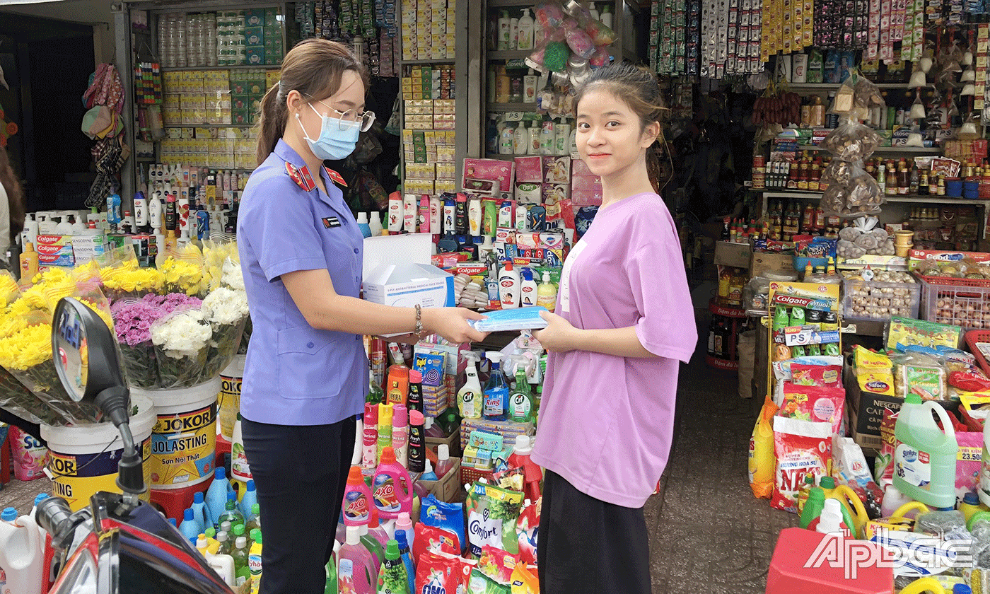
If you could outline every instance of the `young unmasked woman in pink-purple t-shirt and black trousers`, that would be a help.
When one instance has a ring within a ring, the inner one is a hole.
[[[697,343],[680,242],[659,197],[652,73],[596,70],[578,90],[577,149],[602,206],[564,261],[533,459],[546,469],[543,594],[650,592],[643,506],[666,466],[679,361]]]

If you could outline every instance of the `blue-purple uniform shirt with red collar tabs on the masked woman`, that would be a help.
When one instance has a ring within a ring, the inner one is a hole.
[[[359,335],[310,326],[280,276],[325,268],[339,295],[358,297],[360,230],[344,193],[325,170],[329,192],[306,191],[286,162],[306,162],[279,140],[251,173],[238,216],[238,250],[251,332],[241,414],[271,425],[328,425],[363,410],[367,356]]]

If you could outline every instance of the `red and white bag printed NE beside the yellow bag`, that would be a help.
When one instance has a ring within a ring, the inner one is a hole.
[[[798,512],[797,494],[807,473],[827,476],[832,461],[832,425],[773,418],[776,481],[770,505],[792,514]]]

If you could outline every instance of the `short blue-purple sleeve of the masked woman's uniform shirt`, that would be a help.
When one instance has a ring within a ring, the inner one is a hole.
[[[268,282],[288,272],[327,267],[312,200],[288,176],[262,181],[251,197],[256,202],[241,229]]]

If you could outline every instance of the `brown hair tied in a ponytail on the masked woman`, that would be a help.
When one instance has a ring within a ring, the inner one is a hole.
[[[289,108],[285,99],[292,90],[307,99],[330,97],[341,89],[341,77],[353,70],[367,87],[367,70],[353,51],[344,44],[309,39],[296,44],[282,60],[281,80],[261,98],[258,110],[257,151],[260,165],[278,144],[288,126]]]

